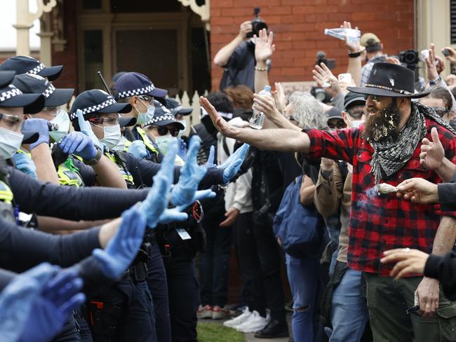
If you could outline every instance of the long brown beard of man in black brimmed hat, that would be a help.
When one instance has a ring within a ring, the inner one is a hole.
[[[369,142],[379,142],[391,135],[396,130],[401,119],[396,100],[393,100],[384,109],[376,110],[375,107],[367,107],[367,111],[368,113],[375,113],[373,115],[368,114],[361,135],[361,137],[367,139]]]

